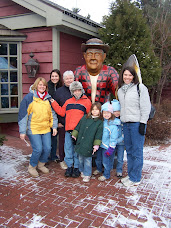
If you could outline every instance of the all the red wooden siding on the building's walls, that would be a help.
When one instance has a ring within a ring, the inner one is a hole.
[[[0,17],[15,16],[17,14],[31,13],[26,8],[12,2],[11,0],[0,0]],[[53,69],[52,50],[52,27],[37,27],[18,30],[27,35],[22,42],[21,64],[22,64],[22,94],[23,97],[29,92],[37,77],[49,80],[50,72]],[[60,71],[75,71],[76,67],[84,64],[81,52],[81,43],[86,42],[80,37],[60,32]],[[29,60],[29,54],[33,52],[34,58],[38,60],[40,67],[36,78],[29,78],[26,73],[25,63]],[[1,123],[0,132],[19,137],[18,123]]]

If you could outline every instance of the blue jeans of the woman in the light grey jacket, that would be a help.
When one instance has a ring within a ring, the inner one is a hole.
[[[128,176],[133,182],[141,180],[145,135],[139,133],[139,122],[124,123],[124,143],[127,152]]]

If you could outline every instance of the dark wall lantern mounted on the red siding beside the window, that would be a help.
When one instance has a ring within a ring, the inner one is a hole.
[[[30,59],[27,63],[25,63],[26,71],[29,78],[34,78],[36,76],[37,71],[39,70],[39,63],[37,59],[33,59],[34,54],[30,53]]]

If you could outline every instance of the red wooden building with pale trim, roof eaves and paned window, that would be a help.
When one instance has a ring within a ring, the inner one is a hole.
[[[81,43],[98,37],[100,25],[49,0],[0,0],[0,130],[19,136],[20,102],[37,77],[52,69],[74,71],[84,63]],[[29,78],[29,54],[40,64]]]

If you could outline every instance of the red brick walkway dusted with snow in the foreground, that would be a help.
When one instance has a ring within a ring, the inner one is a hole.
[[[0,148],[0,227],[171,227],[171,145],[147,147],[141,184],[126,188],[115,176],[89,183],[65,178],[59,164],[50,174],[27,173],[31,147],[8,136]],[[124,163],[126,175],[126,162]]]

